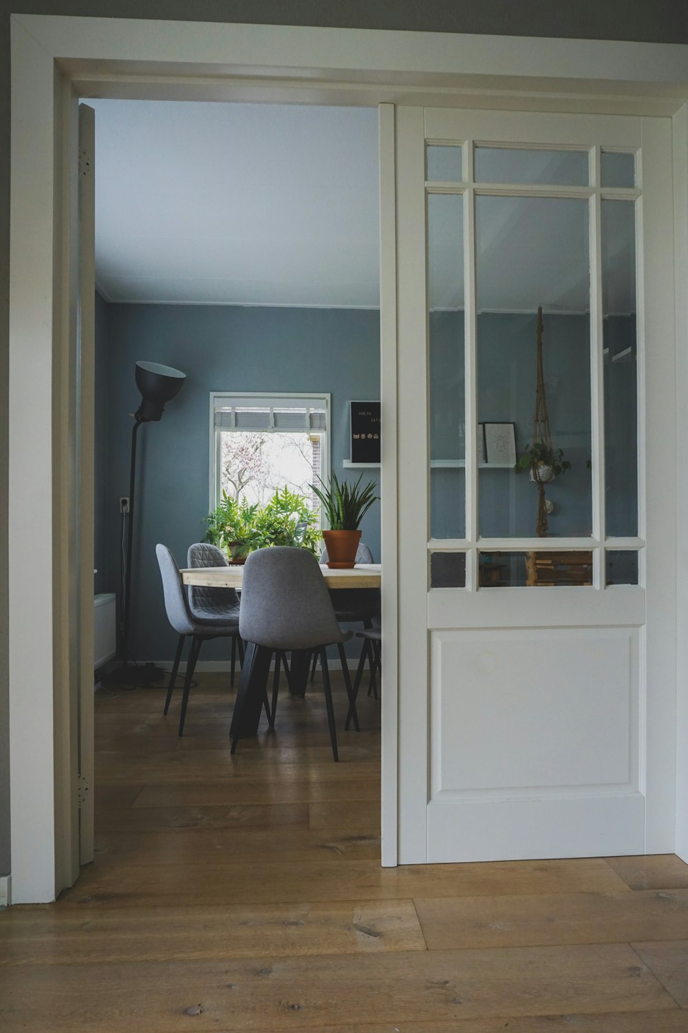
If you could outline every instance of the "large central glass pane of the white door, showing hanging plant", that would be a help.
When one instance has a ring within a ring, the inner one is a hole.
[[[479,534],[533,537],[544,515],[549,537],[588,536],[588,201],[483,195],[475,209],[478,420],[484,425]],[[538,399],[546,419],[536,426]],[[511,458],[522,462],[520,472]],[[543,483],[544,514],[535,477]]]

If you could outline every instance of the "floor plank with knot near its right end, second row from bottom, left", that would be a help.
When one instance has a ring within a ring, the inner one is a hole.
[[[411,901],[123,908],[92,916],[57,905],[15,908],[0,920],[0,966],[425,949]]]

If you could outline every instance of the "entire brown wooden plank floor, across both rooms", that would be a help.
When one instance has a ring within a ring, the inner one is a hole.
[[[339,764],[317,684],[230,757],[199,681],[182,741],[159,689],[98,693],[96,859],[0,914],[3,1033],[688,1031],[688,866],[383,870],[379,705]]]

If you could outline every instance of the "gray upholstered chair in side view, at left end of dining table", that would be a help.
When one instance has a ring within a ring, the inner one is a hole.
[[[200,621],[193,617],[184,593],[182,575],[179,572],[177,560],[166,545],[156,545],[155,555],[158,558],[160,576],[162,577],[162,591],[164,594],[167,620],[179,635],[177,655],[175,656],[175,664],[169,679],[167,698],[165,699],[163,714],[166,714],[169,710],[173,689],[175,687],[175,679],[177,678],[180,660],[182,659],[184,640],[186,638],[190,639],[189,654],[186,663],[186,677],[184,679],[184,691],[182,693],[182,710],[179,719],[179,733],[182,735],[184,733],[186,708],[189,701],[189,689],[191,688],[193,671],[196,666],[196,661],[198,660],[200,647],[208,638],[226,638],[239,634],[239,623],[237,621],[232,621],[231,623],[227,622],[226,624],[219,624],[217,621]],[[268,714],[268,721],[271,722],[272,719],[267,695],[263,702],[265,706],[265,713]]]

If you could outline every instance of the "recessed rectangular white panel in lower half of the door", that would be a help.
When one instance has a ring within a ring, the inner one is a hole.
[[[637,790],[637,632],[435,631],[431,800]]]

